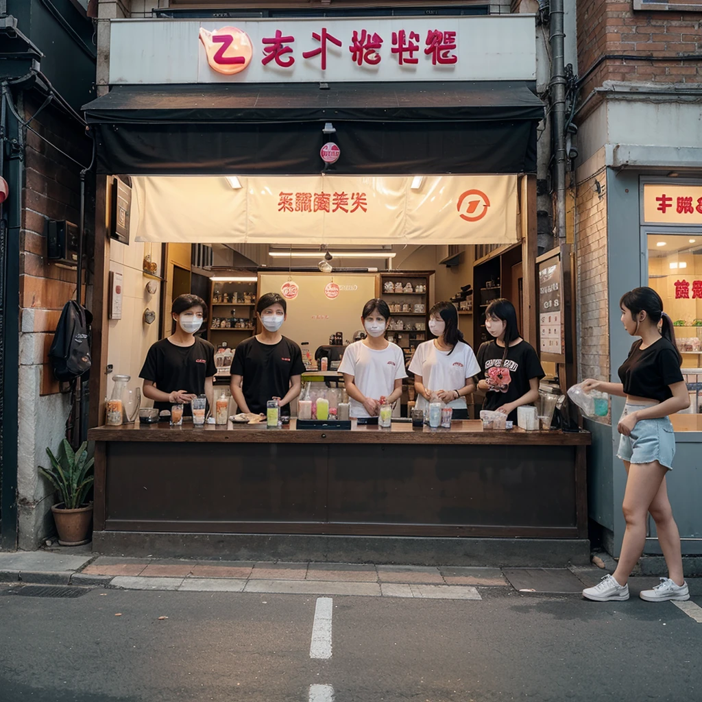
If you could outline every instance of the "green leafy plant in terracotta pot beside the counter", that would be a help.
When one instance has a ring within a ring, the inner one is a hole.
[[[93,463],[89,456],[88,442],[83,442],[78,451],[63,439],[58,449],[58,458],[47,447],[51,468],[41,468],[39,472],[55,487],[61,501],[53,505],[53,519],[58,531],[58,543],[62,546],[79,546],[90,541],[88,529],[93,519],[93,503],[86,503],[86,497],[93,484]]]

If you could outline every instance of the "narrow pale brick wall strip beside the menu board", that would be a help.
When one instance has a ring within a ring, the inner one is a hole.
[[[597,193],[595,180],[600,183]],[[576,187],[578,371],[580,378],[609,381],[607,286],[607,185],[605,173]]]

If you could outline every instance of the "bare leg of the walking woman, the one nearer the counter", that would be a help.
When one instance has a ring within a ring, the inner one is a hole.
[[[621,505],[626,520],[621,555],[614,571],[614,579],[626,585],[631,571],[644,552],[646,543],[646,515],[665,477],[665,468],[658,461],[631,463],[628,470],[624,502]]]

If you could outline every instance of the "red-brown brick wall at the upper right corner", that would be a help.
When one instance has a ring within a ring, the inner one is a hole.
[[[582,76],[597,59],[609,54],[654,56],[667,60],[611,59],[585,79],[586,98],[603,81],[664,83],[702,82],[702,56],[676,60],[702,51],[701,12],[635,11],[631,0],[578,0],[578,69]]]

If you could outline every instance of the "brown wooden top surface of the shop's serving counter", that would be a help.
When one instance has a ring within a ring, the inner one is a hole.
[[[296,428],[296,420],[282,428],[261,424],[205,425],[180,427],[165,424],[101,426],[88,430],[88,439],[104,442],[219,442],[232,444],[542,444],[545,446],[584,446],[590,433],[564,434],[559,431],[527,432],[519,428],[484,430],[480,420],[456,420],[451,429],[415,429],[411,423],[392,423],[390,429],[361,425],[355,421],[350,431]]]

